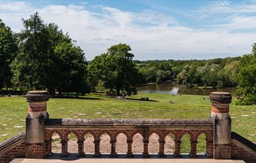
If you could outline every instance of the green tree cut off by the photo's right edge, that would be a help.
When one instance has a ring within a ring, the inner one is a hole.
[[[256,104],[256,43],[252,45],[252,54],[244,55],[240,60],[240,70],[237,74],[237,96],[242,99],[239,105]]]

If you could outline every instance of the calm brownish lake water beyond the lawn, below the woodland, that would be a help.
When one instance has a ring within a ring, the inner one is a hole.
[[[147,84],[137,87],[137,90],[145,93],[165,93],[165,94],[191,94],[209,96],[211,92],[229,92],[232,96],[236,93],[236,87],[214,88],[214,89],[196,89],[192,87],[179,87],[177,82],[168,82],[164,84]]]

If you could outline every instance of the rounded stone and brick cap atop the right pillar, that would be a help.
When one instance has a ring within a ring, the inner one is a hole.
[[[231,93],[228,92],[212,92],[210,93],[210,102],[231,103]]]

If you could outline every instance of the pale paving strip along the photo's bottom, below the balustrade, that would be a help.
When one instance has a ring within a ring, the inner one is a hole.
[[[90,162],[90,163],[245,163],[243,160],[225,159],[13,159],[11,163],[58,163],[58,162]]]

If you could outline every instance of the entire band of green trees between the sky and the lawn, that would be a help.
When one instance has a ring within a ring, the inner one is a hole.
[[[120,43],[88,62],[69,34],[38,13],[22,23],[14,33],[0,19],[0,90],[48,90],[52,96],[104,90],[120,96],[137,93],[138,84],[177,79],[186,87],[238,85],[240,103],[256,103],[255,44],[252,54],[237,58],[133,61],[130,46]]]

